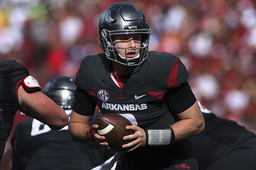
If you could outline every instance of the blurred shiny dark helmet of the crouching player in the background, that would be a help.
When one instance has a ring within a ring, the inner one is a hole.
[[[43,89],[43,93],[61,107],[71,108],[75,100],[75,78],[58,76],[52,78]]]

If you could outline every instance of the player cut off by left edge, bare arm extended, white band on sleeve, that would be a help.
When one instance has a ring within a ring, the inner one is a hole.
[[[15,60],[0,61],[0,161],[18,109],[54,130],[67,125],[64,110],[40,90],[26,67]]]

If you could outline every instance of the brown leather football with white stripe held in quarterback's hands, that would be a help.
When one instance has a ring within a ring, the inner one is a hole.
[[[111,150],[124,152],[122,145],[132,142],[132,140],[123,140],[124,136],[134,134],[134,131],[125,128],[128,125],[132,126],[132,123],[124,116],[113,113],[102,114],[97,117],[97,124],[98,134],[106,138],[105,142]]]

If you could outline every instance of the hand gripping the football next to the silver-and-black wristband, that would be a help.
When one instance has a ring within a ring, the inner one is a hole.
[[[124,149],[127,148],[127,152],[131,152],[138,147],[146,146],[146,133],[144,129],[141,129],[140,127],[134,124],[133,126],[126,126],[126,129],[133,130],[134,134],[125,136],[123,137],[123,139],[124,140],[132,139],[133,141],[128,144],[124,144],[122,148]]]

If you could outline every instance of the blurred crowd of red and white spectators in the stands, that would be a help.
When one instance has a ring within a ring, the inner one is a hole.
[[[25,65],[43,87],[76,76],[101,53],[98,22],[116,0],[0,0],[0,60]],[[149,50],[178,57],[196,98],[216,115],[256,131],[256,2],[127,0],[151,26]]]

